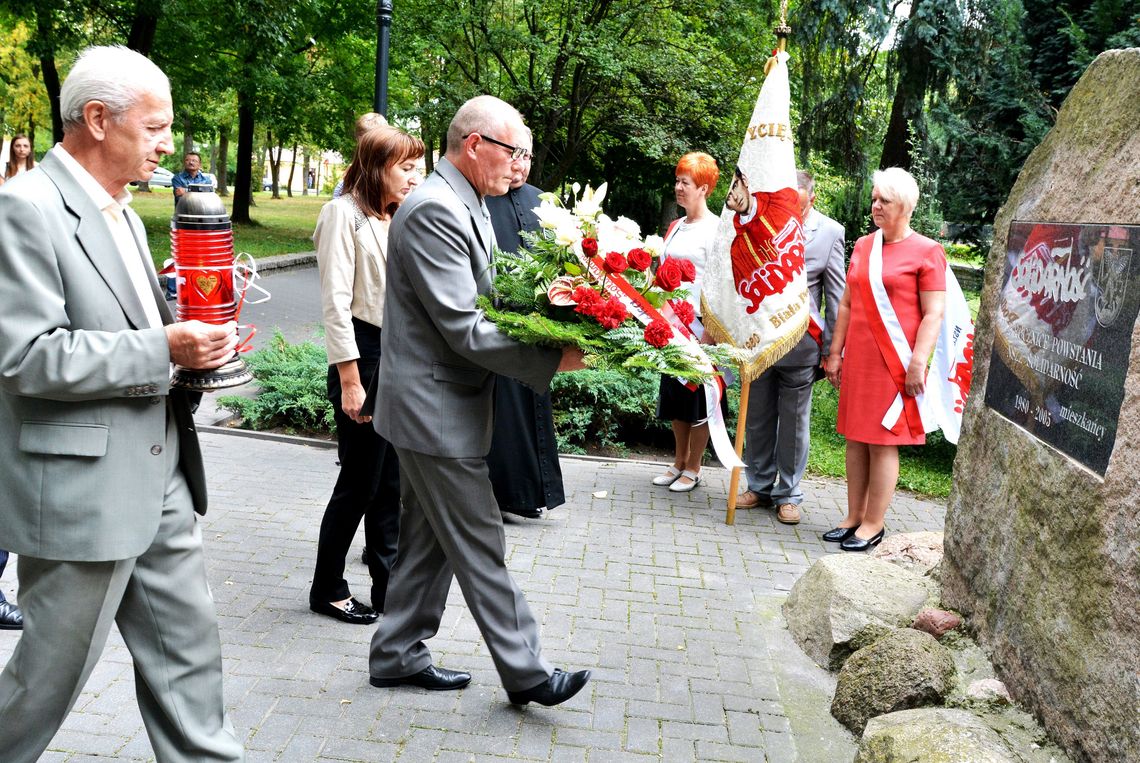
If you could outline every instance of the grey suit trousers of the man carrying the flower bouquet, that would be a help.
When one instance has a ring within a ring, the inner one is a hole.
[[[506,569],[506,535],[483,458],[441,458],[397,448],[400,539],[384,617],[372,639],[373,677],[413,675],[432,664],[451,577],[459,582],[507,691],[543,683],[538,624]],[[454,666],[453,666],[454,667]]]

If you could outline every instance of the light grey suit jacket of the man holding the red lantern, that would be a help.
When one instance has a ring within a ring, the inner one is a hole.
[[[169,323],[142,222],[127,218]],[[166,489],[168,408],[205,512],[192,400],[170,389],[165,333],[146,325],[103,213],[51,152],[0,188],[0,547],[141,554]]]

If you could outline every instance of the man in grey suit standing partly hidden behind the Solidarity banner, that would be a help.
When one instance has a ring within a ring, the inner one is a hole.
[[[823,352],[831,343],[839,300],[844,295],[844,227],[815,209],[815,179],[797,173],[799,209],[804,220],[804,262],[812,316],[823,335],[804,334],[799,344],[752,381],[746,422],[744,473],[748,489],[736,506],[776,506],[784,525],[799,522],[804,502],[800,480],[811,446],[812,387],[819,378]],[[820,302],[826,319],[821,319]]]

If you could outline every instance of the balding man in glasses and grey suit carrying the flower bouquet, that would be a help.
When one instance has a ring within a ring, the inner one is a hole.
[[[553,669],[538,625],[506,569],[503,518],[483,460],[491,443],[495,374],[545,390],[581,354],[520,344],[475,307],[491,285],[490,217],[527,149],[522,117],[491,96],[465,103],[447,153],[400,206],[388,235],[388,292],[376,430],[400,457],[400,539],[384,618],[372,640],[374,687],[459,689],[461,671],[432,664],[424,641],[439,630],[453,576],[511,703],[555,705],[589,671]]]

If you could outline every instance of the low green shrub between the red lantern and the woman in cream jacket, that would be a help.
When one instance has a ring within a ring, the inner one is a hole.
[[[333,431],[324,347],[314,342],[291,344],[277,332],[269,347],[251,354],[246,364],[258,381],[256,397],[228,395],[218,399],[219,407],[239,415],[250,429]]]

